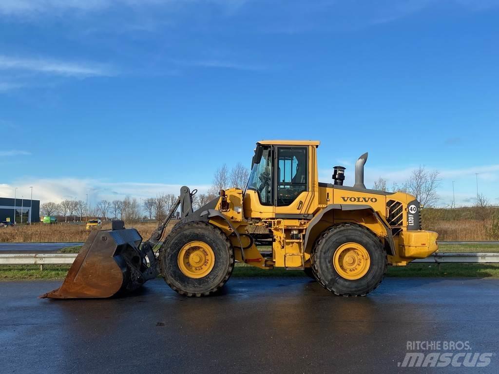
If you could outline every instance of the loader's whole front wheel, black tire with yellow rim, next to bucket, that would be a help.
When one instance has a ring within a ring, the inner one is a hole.
[[[197,251],[197,252],[196,252]],[[204,257],[199,266],[190,262]],[[191,256],[193,260],[189,259]],[[234,250],[227,236],[206,222],[175,227],[160,249],[160,270],[165,282],[186,296],[207,296],[218,291],[234,269]]]

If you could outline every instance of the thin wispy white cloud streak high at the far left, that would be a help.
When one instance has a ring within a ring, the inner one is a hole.
[[[47,58],[18,58],[0,55],[0,70],[27,70],[65,76],[109,76],[103,66],[81,62],[58,61]]]

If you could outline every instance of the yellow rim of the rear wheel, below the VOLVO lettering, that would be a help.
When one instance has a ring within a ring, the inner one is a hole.
[[[334,270],[345,279],[355,280],[366,275],[371,266],[367,250],[358,243],[345,243],[333,256]]]

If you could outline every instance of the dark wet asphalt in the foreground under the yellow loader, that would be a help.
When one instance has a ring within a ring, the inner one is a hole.
[[[110,300],[0,283],[1,373],[498,373],[499,280],[388,278],[363,298],[308,278],[232,278],[185,298],[163,280]],[[399,368],[407,341],[469,341],[483,368]]]

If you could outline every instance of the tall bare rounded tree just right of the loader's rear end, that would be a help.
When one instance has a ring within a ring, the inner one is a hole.
[[[405,183],[405,189],[414,195],[422,206],[433,207],[439,200],[437,188],[440,185],[440,179],[438,176],[438,171],[427,172],[424,166],[420,166],[412,172],[411,177]]]

